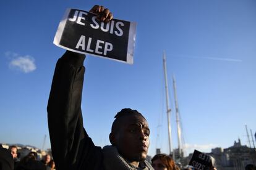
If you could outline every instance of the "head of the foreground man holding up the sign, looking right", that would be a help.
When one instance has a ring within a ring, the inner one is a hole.
[[[147,120],[139,111],[130,108],[122,109],[114,118],[109,134],[111,144],[130,162],[145,160],[150,144]]]

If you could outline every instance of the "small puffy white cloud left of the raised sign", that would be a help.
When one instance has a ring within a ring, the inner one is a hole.
[[[30,73],[36,70],[35,59],[30,55],[20,56],[14,52],[6,52],[11,62],[9,63],[10,68],[14,68],[22,71],[23,73]]]

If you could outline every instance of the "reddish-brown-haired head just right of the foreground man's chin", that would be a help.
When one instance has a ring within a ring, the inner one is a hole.
[[[166,154],[157,154],[151,159],[152,166],[155,170],[176,170],[173,158]]]

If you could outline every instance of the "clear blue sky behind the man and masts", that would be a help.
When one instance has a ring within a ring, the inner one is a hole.
[[[256,131],[254,0],[0,1],[0,142],[41,148],[46,134],[50,147],[46,105],[55,63],[65,52],[53,38],[68,7],[94,4],[137,22],[134,65],[85,60],[83,122],[96,145],[109,144],[117,111],[134,108],[150,124],[149,155],[156,147],[168,153],[163,51],[173,110],[176,76],[186,152],[226,148],[238,137],[248,145],[245,124]],[[176,148],[174,112],[171,123]]]

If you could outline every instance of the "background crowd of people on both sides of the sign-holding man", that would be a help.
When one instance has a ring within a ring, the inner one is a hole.
[[[49,154],[46,154],[41,160],[38,160],[38,154],[36,152],[30,152],[20,159],[18,149],[15,145],[10,146],[8,150],[6,148],[2,148],[0,145],[0,150],[0,170],[56,169],[53,158]],[[171,156],[163,153],[153,156],[151,159],[151,166],[155,170],[181,170],[181,168],[174,163]],[[192,168],[183,168],[182,170],[192,170]]]

